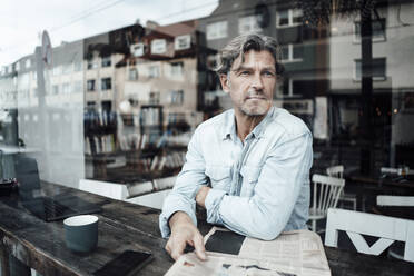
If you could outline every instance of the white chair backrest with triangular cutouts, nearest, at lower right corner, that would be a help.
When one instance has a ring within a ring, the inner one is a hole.
[[[404,259],[414,262],[414,220],[345,209],[328,209],[325,245],[337,247],[344,230],[359,253],[379,255],[395,240],[405,241]],[[368,246],[362,235],[379,237]]]

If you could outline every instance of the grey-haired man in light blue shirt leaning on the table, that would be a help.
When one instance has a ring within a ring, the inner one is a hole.
[[[172,258],[187,244],[206,258],[196,204],[208,223],[255,238],[306,228],[312,135],[300,119],[273,107],[278,51],[276,40],[262,34],[239,36],[223,49],[217,73],[234,109],[198,126],[165,200],[159,221]]]

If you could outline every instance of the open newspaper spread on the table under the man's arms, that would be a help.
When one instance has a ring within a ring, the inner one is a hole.
[[[205,244],[216,231],[228,230],[213,227]],[[309,230],[285,231],[270,241],[244,238],[237,255],[207,250],[207,258],[185,254],[166,276],[331,276],[321,238]]]

